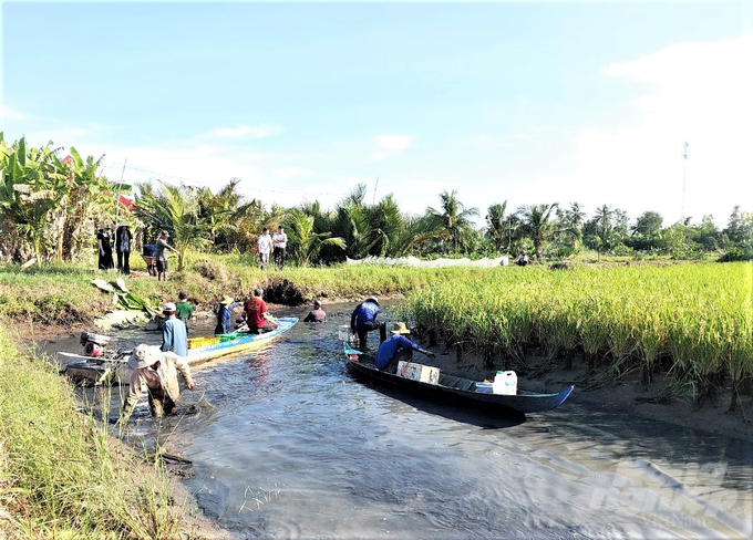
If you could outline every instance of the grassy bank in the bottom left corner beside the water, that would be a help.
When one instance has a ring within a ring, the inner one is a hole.
[[[177,538],[164,470],[144,467],[0,331],[0,537]]]

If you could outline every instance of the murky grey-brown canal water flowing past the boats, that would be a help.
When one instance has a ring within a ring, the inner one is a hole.
[[[745,443],[571,402],[514,423],[378,392],[345,373],[339,309],[195,370],[198,413],[162,423],[238,538],[753,536]],[[148,415],[130,429],[155,434]]]

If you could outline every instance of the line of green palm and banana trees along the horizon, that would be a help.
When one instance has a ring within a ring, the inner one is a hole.
[[[602,255],[720,260],[753,259],[753,212],[735,207],[728,226],[712,216],[700,224],[664,226],[656,211],[633,222],[602,205],[589,216],[582,205],[558,202],[508,209],[493,204],[482,227],[477,208],[466,208],[455,190],[439,194],[439,205],[423,215],[400,210],[392,194],[373,204],[359,185],[333,209],[319,201],[267,209],[238,193],[230,179],[217,193],[206,187],[173,186],[157,180],[135,186],[110,181],[102,157],[83,159],[52,143],[30,147],[24,137],[7,144],[0,133],[0,260],[38,263],[87,260],[96,229],[127,221],[137,243],[149,243],[167,229],[183,268],[188,249],[254,253],[262,227],[286,227],[288,252],[300,266],[330,264],[364,257],[496,257],[527,252],[541,260],[563,260],[584,249]],[[104,156],[103,156],[104,157]],[[124,196],[130,197],[125,199]]]

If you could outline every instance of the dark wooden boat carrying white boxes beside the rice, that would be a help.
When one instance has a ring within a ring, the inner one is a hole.
[[[414,381],[376,368],[371,355],[364,355],[343,343],[348,372],[360,378],[389,384],[411,394],[423,394],[446,404],[464,402],[466,405],[499,408],[515,413],[544,413],[560,406],[573,392],[573,386],[557,394],[538,394],[518,390],[515,395],[493,394],[489,383],[445,375],[440,372],[436,384]]]

